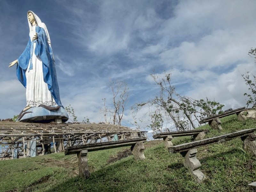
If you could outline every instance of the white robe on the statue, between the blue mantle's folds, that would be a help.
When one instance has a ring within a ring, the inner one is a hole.
[[[30,62],[26,71],[27,87],[26,87],[26,98],[27,106],[38,107],[40,104],[52,106],[57,105],[55,100],[52,98],[51,92],[48,90],[47,84],[44,82],[43,77],[43,64],[42,60],[38,59],[35,55],[36,43],[32,41],[32,38],[36,34],[36,25],[34,25],[30,32],[29,37],[31,42],[34,44],[32,63],[33,69],[29,70]],[[32,46],[31,46],[32,47]]]

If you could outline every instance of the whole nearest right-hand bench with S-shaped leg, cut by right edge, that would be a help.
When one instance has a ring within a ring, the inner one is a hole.
[[[244,144],[243,148],[252,156],[256,156],[256,134],[253,132],[256,131],[256,128],[253,129],[245,129],[233,133],[228,133],[226,135],[221,135],[217,137],[212,137],[209,139],[198,140],[190,143],[184,143],[177,146],[172,146],[168,148],[170,153],[180,153],[183,157],[185,157],[184,166],[190,170],[192,175],[196,177],[197,182],[202,183],[206,180],[204,174],[199,170],[201,163],[196,158],[197,149],[199,147],[204,147],[207,145],[212,145],[215,143],[221,143],[225,141],[229,141],[240,137]]]

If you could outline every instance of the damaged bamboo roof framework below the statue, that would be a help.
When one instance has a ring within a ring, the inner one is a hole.
[[[144,137],[146,131],[113,124],[70,124],[70,123],[21,123],[0,122],[0,160],[12,158],[14,150],[18,156],[30,156],[29,141],[36,140],[39,152],[44,154],[50,146],[57,153],[64,151],[69,146],[87,143],[111,141],[116,134],[118,139]],[[41,151],[40,151],[41,149]]]

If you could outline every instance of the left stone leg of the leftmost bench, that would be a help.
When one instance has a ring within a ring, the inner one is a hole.
[[[87,164],[88,162],[87,153],[88,153],[88,150],[82,150],[79,153],[77,153],[79,175],[84,179],[88,179],[90,177],[90,172]]]

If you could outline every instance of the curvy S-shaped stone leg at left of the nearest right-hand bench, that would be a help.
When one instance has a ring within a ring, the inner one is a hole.
[[[180,154],[185,157],[184,166],[189,169],[191,174],[196,178],[198,183],[203,183],[206,180],[204,173],[199,170],[200,161],[196,158],[197,149],[191,149]]]

